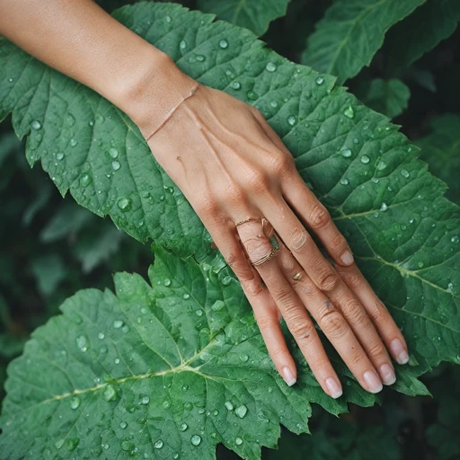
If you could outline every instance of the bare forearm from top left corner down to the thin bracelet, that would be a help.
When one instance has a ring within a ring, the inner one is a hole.
[[[161,122],[162,111],[194,85],[162,51],[92,0],[0,0],[0,34],[102,94],[141,129]]]

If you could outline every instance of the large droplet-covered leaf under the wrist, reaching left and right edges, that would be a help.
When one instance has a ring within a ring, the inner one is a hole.
[[[334,77],[288,62],[250,31],[211,15],[140,3],[115,17],[202,84],[252,103],[269,119],[403,329],[414,367],[398,371],[396,385],[420,393],[413,375],[441,360],[460,362],[460,214],[398,128],[334,86]],[[61,193],[70,190],[141,241],[153,238],[198,261],[216,255],[123,113],[6,40],[0,68],[0,118],[13,111],[16,133],[28,136],[29,161],[41,160]]]

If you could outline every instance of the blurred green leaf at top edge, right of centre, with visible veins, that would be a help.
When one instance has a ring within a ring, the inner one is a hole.
[[[302,62],[337,75],[341,84],[358,74],[384,43],[386,31],[425,0],[338,0],[307,40]]]

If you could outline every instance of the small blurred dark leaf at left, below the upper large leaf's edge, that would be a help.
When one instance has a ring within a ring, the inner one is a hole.
[[[40,240],[43,243],[52,243],[71,234],[77,234],[92,219],[93,215],[86,209],[78,206],[75,201],[67,200],[41,230]]]

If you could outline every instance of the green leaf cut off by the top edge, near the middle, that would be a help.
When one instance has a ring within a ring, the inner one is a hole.
[[[219,19],[263,35],[274,19],[284,16],[290,0],[199,0],[204,13],[215,13]]]

